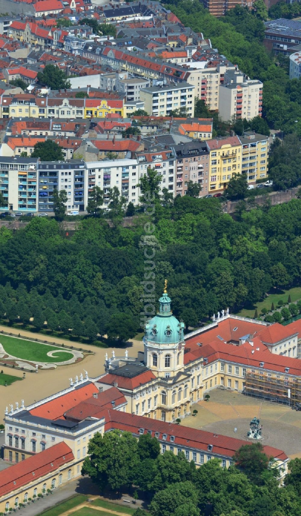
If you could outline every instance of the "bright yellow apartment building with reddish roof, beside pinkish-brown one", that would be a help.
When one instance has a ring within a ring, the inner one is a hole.
[[[209,177],[204,189],[208,193],[223,191],[233,174],[241,174],[242,144],[238,136],[213,138],[207,143]]]

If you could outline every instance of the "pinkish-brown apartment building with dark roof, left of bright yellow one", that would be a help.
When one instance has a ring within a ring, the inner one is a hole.
[[[199,196],[205,195],[205,178],[208,181],[209,151],[206,142],[193,141],[173,146],[176,156],[175,195],[186,195],[187,183],[201,185]]]

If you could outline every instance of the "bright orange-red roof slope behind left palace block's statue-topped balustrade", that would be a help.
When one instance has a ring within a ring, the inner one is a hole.
[[[49,420],[57,420],[63,417],[64,412],[72,409],[84,399],[89,399],[98,389],[94,383],[89,382],[78,389],[74,389],[66,394],[62,394],[55,399],[46,401],[39,407],[31,409],[29,412],[33,416],[44,417]]]

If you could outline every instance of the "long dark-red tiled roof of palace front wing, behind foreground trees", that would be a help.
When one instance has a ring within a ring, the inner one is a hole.
[[[166,442],[171,442],[170,437],[174,437],[174,443],[179,447],[194,448],[199,451],[208,451],[208,445],[213,445],[212,454],[222,455],[231,458],[235,451],[244,444],[250,444],[241,439],[233,437],[220,436],[204,430],[197,430],[196,428],[185,427],[182,425],[174,425],[165,423],[159,420],[153,420],[144,416],[137,416],[135,414],[128,414],[126,412],[119,412],[118,410],[108,410],[104,414],[106,419],[105,430],[118,428],[119,430],[129,431],[140,435],[140,428],[143,433],[147,431],[159,433],[159,439],[162,439],[162,434],[166,434]],[[269,457],[274,457],[279,460],[286,460],[287,455],[284,451],[271,446],[264,446],[264,453]]]

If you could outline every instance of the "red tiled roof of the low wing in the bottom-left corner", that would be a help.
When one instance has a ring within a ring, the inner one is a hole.
[[[0,472],[0,496],[26,486],[38,478],[58,470],[74,459],[71,448],[64,442],[55,444],[37,455]]]

